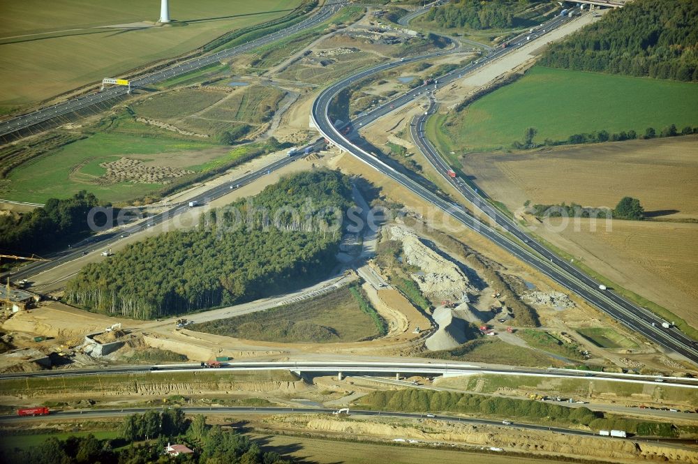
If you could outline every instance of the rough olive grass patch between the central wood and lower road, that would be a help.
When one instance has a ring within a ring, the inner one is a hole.
[[[378,335],[376,324],[362,312],[348,287],[309,301],[194,324],[191,329],[279,343],[334,343]]]

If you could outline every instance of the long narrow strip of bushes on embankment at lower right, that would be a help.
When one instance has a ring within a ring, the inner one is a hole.
[[[399,412],[456,412],[475,416],[499,416],[521,419],[545,419],[571,426],[588,426],[592,430],[614,428],[638,435],[672,437],[676,430],[669,422],[623,419],[614,414],[589,410],[588,407],[567,407],[534,400],[498,398],[454,391],[403,389],[373,391],[362,398],[362,405],[374,410]]]

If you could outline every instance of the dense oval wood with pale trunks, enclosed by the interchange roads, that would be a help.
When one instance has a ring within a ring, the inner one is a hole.
[[[292,290],[334,267],[342,213],[351,204],[349,180],[339,172],[284,177],[208,211],[193,230],[166,232],[87,264],[65,298],[98,313],[151,319]]]

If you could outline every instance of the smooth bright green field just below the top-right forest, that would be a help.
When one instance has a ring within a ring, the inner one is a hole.
[[[511,147],[523,131],[534,142],[577,133],[698,125],[698,84],[537,66],[457,113],[431,118],[427,133],[448,153]]]

